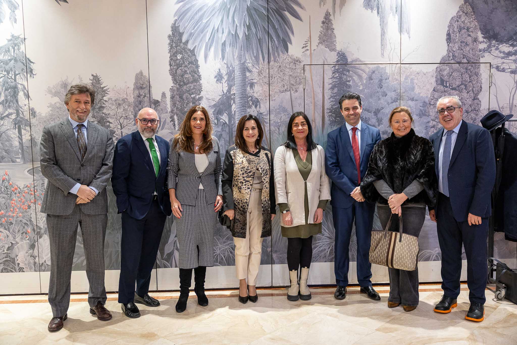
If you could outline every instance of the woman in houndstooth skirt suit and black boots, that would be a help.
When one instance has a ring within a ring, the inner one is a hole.
[[[214,231],[222,206],[219,141],[202,106],[189,109],[169,152],[167,166],[178,238],[179,289],[176,311],[187,308],[192,269],[197,303],[208,305],[206,267],[214,265]]]

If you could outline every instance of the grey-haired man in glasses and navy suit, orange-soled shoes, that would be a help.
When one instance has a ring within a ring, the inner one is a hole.
[[[429,210],[437,222],[442,251],[444,295],[434,311],[449,313],[460,294],[462,244],[467,257],[470,307],[465,319],[483,321],[490,196],[495,182],[495,155],[490,132],[463,120],[456,96],[438,100],[436,116],[444,128],[429,138],[433,143],[438,177],[436,209]]]

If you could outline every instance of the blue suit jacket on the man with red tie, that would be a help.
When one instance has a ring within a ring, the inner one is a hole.
[[[361,147],[359,149],[361,178],[368,169],[372,149],[379,141],[381,141],[381,132],[377,128],[361,122]],[[355,201],[350,193],[359,186],[359,183],[357,181],[354,151],[346,124],[327,134],[325,171],[332,181],[332,187],[330,188],[332,198],[330,204],[332,207],[350,207]]]

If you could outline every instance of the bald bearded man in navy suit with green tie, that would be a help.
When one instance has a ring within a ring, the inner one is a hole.
[[[135,122],[138,131],[117,141],[111,178],[122,214],[118,303],[129,318],[140,317],[135,303],[160,305],[149,296],[149,283],[165,218],[172,213],[165,186],[169,142],[156,135],[159,119],[153,109],[142,109]]]

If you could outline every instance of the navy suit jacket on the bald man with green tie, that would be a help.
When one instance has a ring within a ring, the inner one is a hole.
[[[161,159],[158,176],[139,131],[117,141],[111,183],[117,198],[118,213],[126,211],[135,219],[144,218],[153,202],[155,190],[162,212],[167,216],[172,213],[169,189],[165,184],[169,142],[158,136],[155,138]]]

